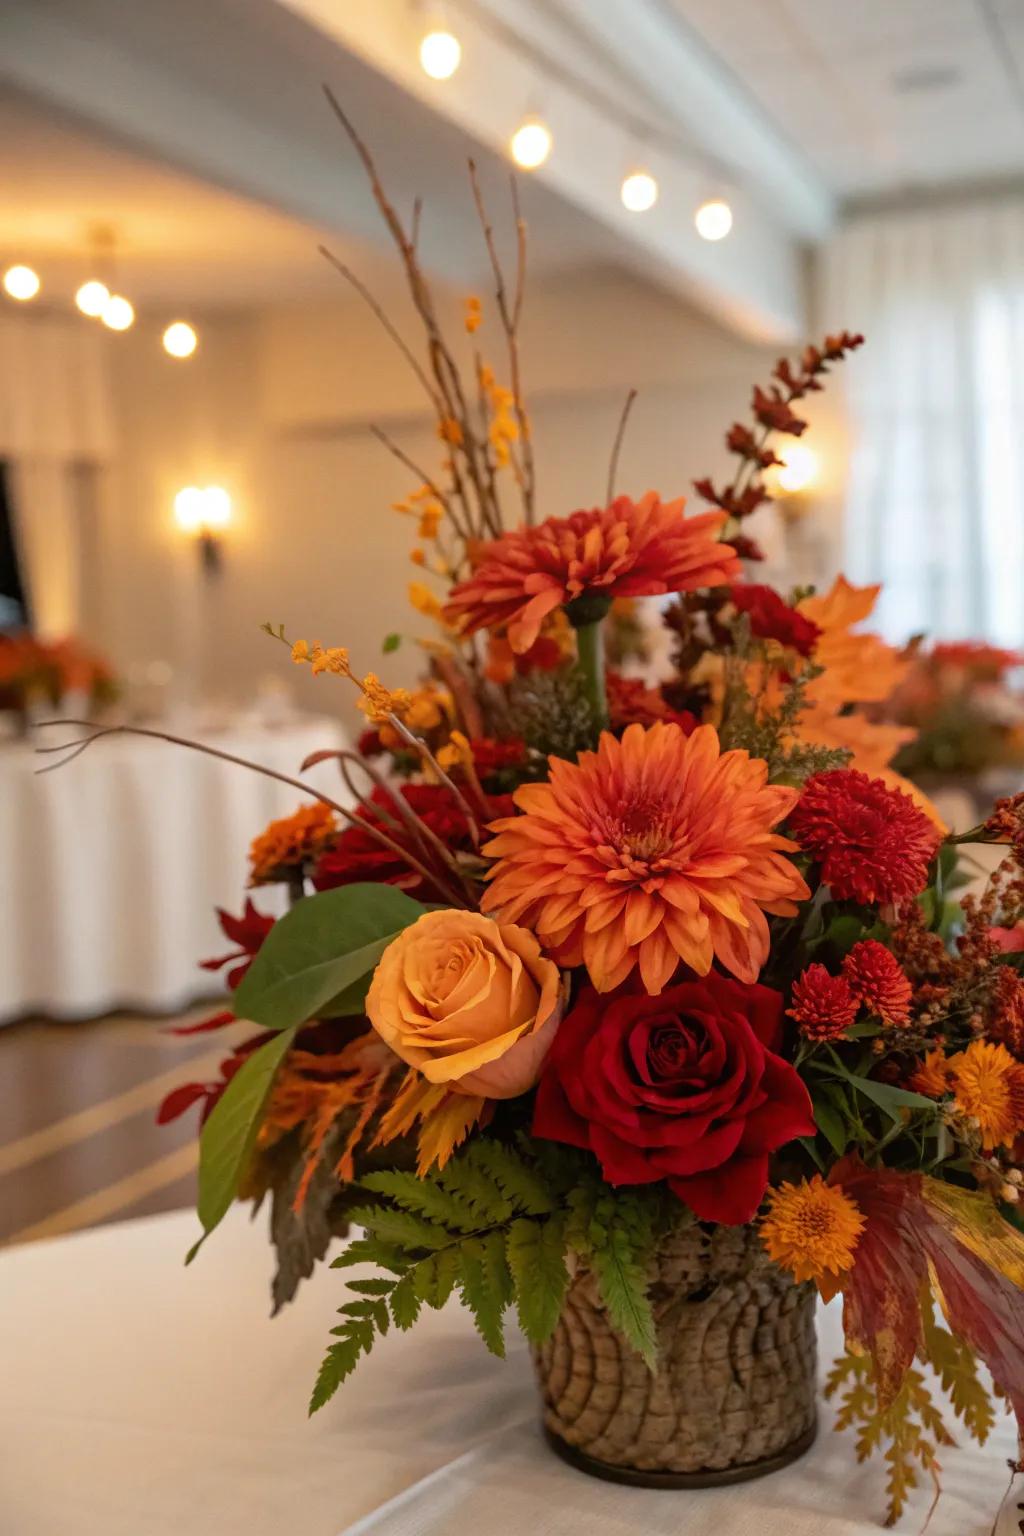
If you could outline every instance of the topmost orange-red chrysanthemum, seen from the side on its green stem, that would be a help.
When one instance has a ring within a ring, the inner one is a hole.
[[[725,513],[685,518],[683,505],[682,496],[663,502],[654,492],[637,502],[617,496],[605,508],[505,533],[453,588],[445,621],[467,634],[507,628],[522,653],[550,613],[586,593],[646,598],[735,581],[735,550],[717,542]]]

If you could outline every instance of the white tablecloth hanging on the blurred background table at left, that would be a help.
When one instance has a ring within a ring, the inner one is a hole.
[[[77,734],[51,728],[0,746],[0,1020],[169,1012],[215,991],[198,962],[232,945],[213,908],[241,911],[252,837],[302,800],[261,774],[132,736],[37,776],[51,759],[34,746]],[[198,734],[292,776],[316,748],[345,745],[339,723],[318,716]],[[342,800],[336,765],[307,777]],[[256,892],[256,905],[273,911],[275,895]]]

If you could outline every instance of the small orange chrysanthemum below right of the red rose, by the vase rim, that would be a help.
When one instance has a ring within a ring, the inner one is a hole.
[[[826,1184],[815,1174],[803,1184],[780,1184],[768,1198],[761,1243],[794,1279],[827,1286],[829,1276],[835,1279],[852,1267],[864,1218],[838,1184]]]

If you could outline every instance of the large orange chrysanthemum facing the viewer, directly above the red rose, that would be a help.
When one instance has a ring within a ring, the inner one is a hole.
[[[548,783],[516,790],[522,816],[491,823],[488,908],[524,923],[560,965],[585,965],[599,992],[640,968],[660,992],[680,960],[720,960],[755,982],[765,912],[791,917],[809,892],[772,833],[797,791],[768,765],[722,753],[711,725],[629,725],[579,762],[550,759]]]

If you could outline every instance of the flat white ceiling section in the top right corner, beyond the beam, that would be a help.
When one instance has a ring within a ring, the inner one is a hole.
[[[1024,0],[663,0],[843,198],[1024,175]]]

